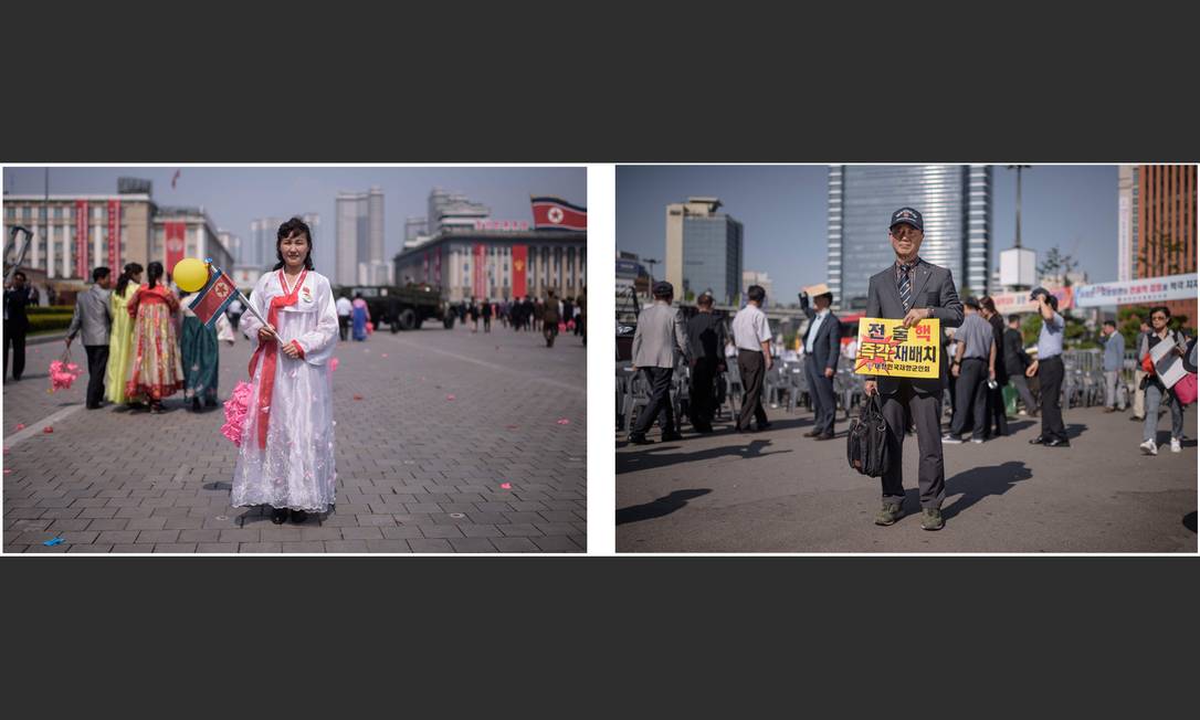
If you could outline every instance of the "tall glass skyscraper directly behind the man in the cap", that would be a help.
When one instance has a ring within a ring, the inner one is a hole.
[[[920,257],[949,268],[954,283],[988,292],[991,166],[834,166],[829,168],[829,289],[841,308],[866,307],[870,278],[895,262],[888,220],[908,205],[925,221]]]

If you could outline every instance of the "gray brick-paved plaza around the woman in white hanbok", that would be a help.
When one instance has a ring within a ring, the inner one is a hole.
[[[228,505],[221,408],[188,413],[179,394],[158,416],[85,410],[86,372],[47,394],[62,344],[31,346],[24,379],[4,385],[4,552],[583,552],[586,348],[498,325],[340,346],[337,505],[301,526]],[[221,353],[224,398],[250,343]],[[86,367],[78,343],[72,356]]]

